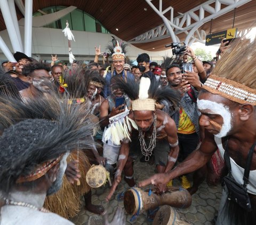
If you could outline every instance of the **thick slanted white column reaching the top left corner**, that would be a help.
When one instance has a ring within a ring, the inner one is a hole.
[[[6,0],[1,0],[0,1],[0,9],[3,14],[5,26],[7,29],[7,32],[9,34],[11,43],[12,43],[12,48],[14,52],[22,52],[22,48],[19,44],[19,39],[15,31],[15,27],[12,21],[12,16],[11,16],[11,11],[9,9],[9,5]]]

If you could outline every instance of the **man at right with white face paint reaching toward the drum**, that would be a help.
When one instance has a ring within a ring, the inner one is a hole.
[[[201,147],[169,173],[156,174],[140,186],[158,184],[203,166],[217,148],[228,175],[216,224],[256,223],[256,40],[234,41],[205,82],[198,97],[205,129]],[[239,60],[236,60],[239,59]]]

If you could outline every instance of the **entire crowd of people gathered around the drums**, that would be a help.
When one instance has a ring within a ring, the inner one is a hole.
[[[227,43],[217,62],[187,46],[161,65],[146,53],[131,65],[115,38],[108,53],[95,47],[89,64],[68,66],[57,55],[47,64],[21,52],[17,63],[3,62],[0,224],[73,224],[82,196],[86,210],[102,215],[85,179],[92,164],[109,174],[106,201],[122,178],[131,188],[154,185],[158,195],[176,178],[193,195],[207,178],[222,183],[216,224],[254,224],[256,40]],[[135,161],[154,164],[156,174],[138,183]],[[124,224],[124,213],[105,220]]]

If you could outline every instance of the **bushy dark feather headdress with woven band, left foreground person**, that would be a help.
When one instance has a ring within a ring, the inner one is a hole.
[[[0,189],[42,177],[62,156],[77,147],[91,147],[91,121],[86,107],[51,98],[0,98]]]

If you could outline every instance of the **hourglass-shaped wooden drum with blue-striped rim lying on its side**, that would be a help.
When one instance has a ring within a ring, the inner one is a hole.
[[[157,195],[141,190],[140,188],[131,188],[125,191],[124,208],[128,214],[141,214],[143,211],[155,209],[159,205],[170,205],[180,209],[186,209],[191,205],[191,195],[183,188],[169,188],[166,193]]]

